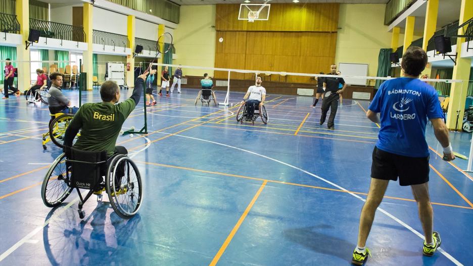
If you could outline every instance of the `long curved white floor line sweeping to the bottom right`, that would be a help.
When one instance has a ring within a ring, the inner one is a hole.
[[[170,133],[164,133],[164,132],[158,132],[158,133],[161,133],[161,134],[166,134],[166,135],[172,135]],[[330,184],[340,190],[343,190],[345,191],[346,193],[354,196],[355,198],[358,198],[362,201],[366,201],[366,199],[350,192],[348,189],[344,188],[344,187],[341,187],[331,181],[328,181],[322,177],[319,177],[315,174],[312,174],[310,173],[309,171],[306,171],[304,169],[301,169],[299,167],[296,167],[296,166],[293,166],[293,165],[290,165],[288,163],[285,163],[285,162],[282,162],[282,161],[279,161],[278,159],[274,159],[274,158],[271,158],[271,157],[268,157],[268,156],[265,156],[265,155],[262,155],[262,154],[259,154],[259,153],[256,153],[254,151],[250,151],[250,150],[246,150],[246,149],[242,149],[242,148],[238,148],[238,147],[235,147],[235,146],[231,146],[231,145],[227,145],[227,144],[223,144],[223,143],[219,143],[219,142],[215,142],[215,141],[210,141],[210,140],[205,140],[205,139],[200,139],[200,138],[194,138],[194,137],[188,137],[188,136],[183,136],[183,135],[174,135],[174,136],[177,136],[177,137],[183,137],[183,138],[190,138],[190,139],[195,139],[195,140],[200,140],[200,141],[204,141],[204,142],[209,142],[209,143],[213,143],[213,144],[217,144],[217,145],[221,145],[221,146],[225,146],[225,147],[228,147],[228,148],[232,148],[232,149],[237,149],[237,150],[241,150],[241,151],[245,151],[245,152],[248,152],[248,153],[251,153],[251,154],[254,154],[254,155],[257,155],[257,156],[260,156],[260,157],[263,157],[263,158],[266,158],[266,159],[269,159],[270,161],[273,161],[273,162],[276,162],[276,163],[279,163],[279,164],[282,164],[282,165],[285,165],[285,166],[288,166],[290,168],[293,168],[293,169],[296,169],[298,171],[301,171],[307,175],[310,175],[312,177],[315,177],[327,184]],[[383,214],[385,214],[386,216],[388,216],[389,218],[393,219],[394,221],[396,221],[397,223],[399,223],[400,225],[402,225],[403,227],[407,228],[409,231],[411,231],[412,233],[414,233],[415,235],[417,235],[418,237],[420,237],[422,240],[424,240],[424,237],[421,233],[417,232],[415,229],[413,229],[412,227],[410,227],[408,224],[404,223],[403,221],[401,221],[399,218],[395,217],[394,215],[390,214],[388,211],[378,207],[377,208],[378,210],[380,210],[381,212],[383,212]],[[440,251],[440,253],[444,254],[448,259],[450,259],[455,265],[458,265],[458,266],[463,266],[462,263],[460,263],[456,258],[454,258],[452,255],[450,255],[447,251],[443,250],[442,248],[437,248],[437,250]]]

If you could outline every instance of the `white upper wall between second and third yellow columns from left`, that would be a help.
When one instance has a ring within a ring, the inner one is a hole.
[[[101,30],[111,33],[127,35],[126,25],[127,16],[105,9],[101,9],[95,6],[93,7],[92,27],[94,30]]]

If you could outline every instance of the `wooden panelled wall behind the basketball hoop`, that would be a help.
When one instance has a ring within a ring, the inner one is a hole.
[[[239,8],[217,5],[216,68],[319,73],[335,62],[339,4],[271,4],[269,20],[254,24],[237,19]],[[226,79],[228,73],[215,71],[214,76]],[[252,75],[232,73],[231,79]],[[270,79],[278,81],[279,76]],[[308,81],[287,77],[287,82]]]

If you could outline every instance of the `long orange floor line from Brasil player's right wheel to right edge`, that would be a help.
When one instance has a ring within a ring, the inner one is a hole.
[[[175,168],[175,169],[181,169],[181,170],[187,170],[187,171],[194,171],[194,172],[201,172],[201,173],[214,174],[214,175],[221,175],[221,176],[238,177],[238,178],[250,179],[250,180],[257,180],[257,181],[267,181],[267,182],[270,182],[270,183],[283,184],[283,185],[291,185],[291,186],[315,188],[315,189],[328,190],[328,191],[336,191],[336,192],[343,192],[343,193],[353,193],[353,194],[365,195],[365,196],[368,195],[368,193],[363,193],[363,192],[341,190],[341,189],[336,189],[336,188],[318,187],[318,186],[304,185],[304,184],[291,183],[291,182],[284,182],[284,181],[277,181],[277,180],[268,180],[268,179],[263,179],[263,178],[256,178],[256,177],[249,177],[249,176],[242,176],[242,175],[234,175],[234,174],[227,174],[227,173],[214,172],[214,171],[207,171],[207,170],[201,170],[201,169],[195,169],[195,168],[189,168],[189,167],[171,166],[171,165],[164,165],[164,164],[150,163],[150,162],[135,162],[135,163],[137,163],[137,164],[145,164],[145,165],[154,165],[154,166],[160,166],[160,167],[167,167],[167,168]],[[400,198],[400,197],[392,197],[392,196],[384,196],[384,198],[390,198],[390,199],[397,199],[397,200],[415,202],[414,199],[409,199],[409,198]],[[460,206],[460,205],[453,205],[453,204],[439,203],[439,202],[431,202],[431,203],[432,203],[432,204],[435,204],[435,205],[442,205],[442,206],[449,206],[449,207],[456,207],[456,208],[465,208],[465,209],[473,209],[473,207],[468,207],[468,206]]]

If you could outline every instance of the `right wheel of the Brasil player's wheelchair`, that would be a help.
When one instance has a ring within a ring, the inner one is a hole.
[[[117,215],[123,219],[133,217],[141,206],[143,183],[138,168],[128,156],[119,154],[112,159],[105,184]]]

